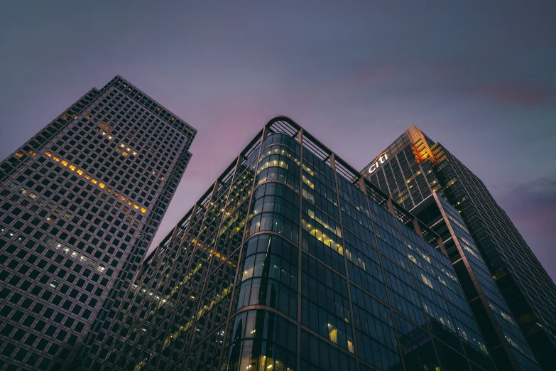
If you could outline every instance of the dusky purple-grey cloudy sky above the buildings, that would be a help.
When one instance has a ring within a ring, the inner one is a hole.
[[[556,278],[555,1],[5,1],[0,158],[121,75],[198,130],[154,239],[271,117],[354,168],[411,124]]]

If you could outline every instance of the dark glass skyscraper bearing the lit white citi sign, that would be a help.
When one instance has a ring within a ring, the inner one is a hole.
[[[449,227],[443,229],[443,234],[441,225],[457,224],[447,221],[449,214],[459,217],[460,229],[472,240],[464,237],[468,243],[456,242],[461,248],[452,249],[450,258],[454,266],[460,266],[456,267],[460,281],[465,276],[474,279],[466,294],[479,325],[482,319],[490,319],[490,325],[481,325],[487,343],[491,339],[501,345],[515,366],[513,358],[528,353],[517,340],[518,333],[513,337],[509,333],[515,327],[513,323],[517,323],[540,366],[552,370],[556,352],[556,286],[481,180],[415,126],[361,173],[404,208],[427,220],[443,238],[458,240]],[[471,253],[464,245],[471,250],[476,246],[480,255],[471,257],[476,251]],[[463,260],[458,261],[460,258]],[[493,282],[498,289],[491,287]],[[496,301],[499,294],[503,301]],[[512,316],[507,316],[507,308]],[[491,331],[486,330],[489,326]],[[504,343],[510,343],[511,348]]]

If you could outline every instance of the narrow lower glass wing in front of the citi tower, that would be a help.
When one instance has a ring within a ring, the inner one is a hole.
[[[412,213],[442,237],[498,370],[540,370],[457,210],[432,193]]]

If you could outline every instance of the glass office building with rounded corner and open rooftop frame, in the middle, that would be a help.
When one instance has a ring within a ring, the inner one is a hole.
[[[145,260],[94,369],[494,364],[440,237],[276,117]]]

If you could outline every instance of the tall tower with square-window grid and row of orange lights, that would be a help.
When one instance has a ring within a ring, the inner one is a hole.
[[[109,322],[194,136],[117,76],[0,163],[1,370],[67,368]]]

